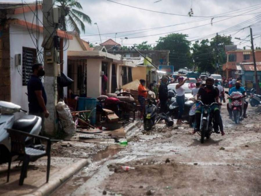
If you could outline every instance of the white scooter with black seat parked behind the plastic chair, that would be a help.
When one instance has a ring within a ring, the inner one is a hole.
[[[0,163],[8,163],[10,158],[11,143],[6,129],[12,128],[35,135],[38,135],[41,131],[41,117],[25,115],[15,120],[15,113],[20,111],[26,112],[19,105],[0,101]],[[25,141],[26,145],[34,144],[30,137],[26,137]]]

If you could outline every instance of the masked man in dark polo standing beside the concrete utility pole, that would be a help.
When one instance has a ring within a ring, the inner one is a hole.
[[[33,74],[27,83],[29,114],[42,118],[41,133],[43,134],[44,118],[48,118],[49,116],[49,112],[46,109],[46,93],[40,79],[40,77],[44,76],[45,72],[43,65],[40,63],[33,64],[32,70]]]

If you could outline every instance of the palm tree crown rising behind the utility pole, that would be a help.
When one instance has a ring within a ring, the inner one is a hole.
[[[61,9],[59,28],[66,31],[67,27],[70,26],[74,31],[77,31],[77,33],[80,34],[80,29],[78,28],[78,25],[80,25],[82,31],[85,33],[83,21],[91,24],[91,19],[81,11],[73,9],[78,8],[82,10],[81,4],[77,0],[55,0],[55,3],[56,6]]]

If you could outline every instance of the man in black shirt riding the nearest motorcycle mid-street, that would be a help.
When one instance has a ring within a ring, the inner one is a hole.
[[[213,87],[214,79],[213,78],[207,78],[206,79],[206,86],[199,89],[199,92],[197,93],[197,99],[201,97],[202,103],[205,105],[210,105],[211,103],[217,102],[219,104],[219,92],[216,88]],[[215,123],[219,124],[220,119],[220,110],[218,105],[212,105],[211,106],[211,112],[213,112]],[[197,108],[196,114],[195,114],[195,120],[196,120],[196,127],[192,134],[195,134],[197,131],[199,131],[200,127],[200,120],[201,120],[201,107]],[[215,126],[216,127],[216,126]],[[219,134],[219,131],[215,128],[215,132]],[[224,131],[220,130],[221,134],[224,135]]]

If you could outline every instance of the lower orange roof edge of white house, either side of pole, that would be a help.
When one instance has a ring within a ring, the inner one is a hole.
[[[20,20],[20,19],[9,19],[8,23],[23,26],[26,28],[29,27],[29,30],[36,30],[38,28],[41,33],[43,33],[44,30],[42,26],[37,26],[36,24],[32,24],[30,22]],[[68,35],[65,31],[62,30],[57,30],[57,35],[62,38],[73,39],[72,35]]]

